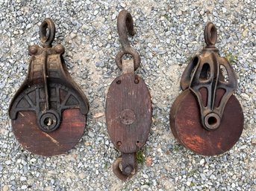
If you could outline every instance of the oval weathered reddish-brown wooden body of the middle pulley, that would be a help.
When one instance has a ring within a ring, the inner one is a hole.
[[[106,100],[107,132],[120,152],[137,152],[149,136],[152,104],[145,82],[123,74],[110,85]]]

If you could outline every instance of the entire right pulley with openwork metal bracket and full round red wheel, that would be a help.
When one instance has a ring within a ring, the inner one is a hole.
[[[199,155],[219,155],[231,149],[243,132],[243,110],[233,95],[237,78],[215,47],[216,27],[207,23],[206,46],[181,76],[183,92],[170,112],[178,141]]]

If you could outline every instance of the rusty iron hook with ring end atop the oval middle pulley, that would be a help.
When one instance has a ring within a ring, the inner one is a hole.
[[[121,10],[117,17],[117,30],[119,34],[119,41],[122,45],[122,50],[116,54],[116,65],[122,70],[122,56],[131,54],[134,58],[134,71],[140,66],[140,54],[131,47],[128,40],[128,33],[134,36],[134,22],[127,10]]]

